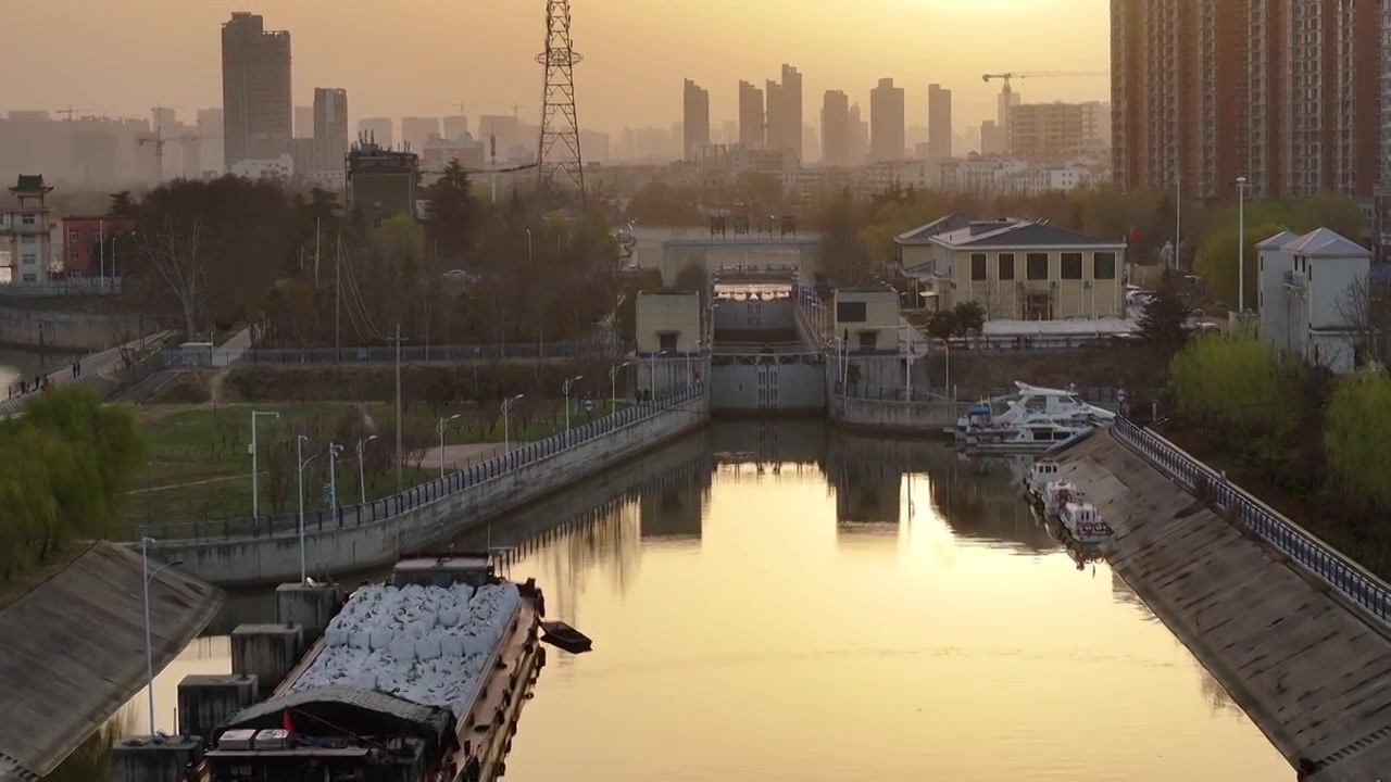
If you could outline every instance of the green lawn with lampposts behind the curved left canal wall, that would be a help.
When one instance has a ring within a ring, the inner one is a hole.
[[[626,406],[619,402],[619,408]],[[325,441],[338,431],[344,440],[344,452],[338,458],[339,504],[356,504],[363,497],[359,481],[356,440],[344,437],[370,434],[356,405],[349,402],[310,402],[289,405],[140,405],[131,412],[145,436],[146,465],[143,474],[136,476],[132,493],[117,519],[118,530],[113,537],[134,532],[142,525],[159,529],[161,523],[185,520],[216,520],[225,518],[248,518],[252,515],[250,476],[250,410],[275,412],[278,419],[259,416],[256,436],[259,441],[259,511],[294,512],[298,508],[298,484],[294,477],[282,481],[280,508],[273,500],[270,469],[274,458],[271,449],[280,448],[291,459],[288,470],[294,473],[294,452],[288,451],[296,434],[309,436],[306,456],[320,454],[305,470],[305,509],[324,508],[323,486],[328,480],[327,465],[323,463]],[[595,401],[593,412],[572,413],[572,426],[601,417],[608,409],[608,401]],[[384,462],[384,455],[394,448],[392,405],[367,404],[362,412],[380,433],[380,441],[373,447],[378,458],[364,465],[366,497],[380,500],[396,493],[395,469]],[[459,404],[435,409],[416,402],[406,408],[408,465],[402,474],[405,487],[416,486],[437,477],[438,462],[423,458],[420,468],[410,466],[410,455],[420,455],[426,448],[438,445],[435,434],[440,417],[459,415],[445,430],[447,445],[485,444],[502,441],[502,415],[497,405],[480,409],[477,405]],[[549,437],[565,430],[563,399],[522,399],[509,413],[509,436],[512,442],[529,442]],[[412,448],[410,442],[416,442]],[[284,463],[284,462],[282,462]],[[463,466],[451,459],[451,469]]]

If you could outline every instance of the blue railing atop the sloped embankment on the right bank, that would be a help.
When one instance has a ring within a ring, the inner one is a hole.
[[[1239,486],[1180,451],[1173,442],[1118,419],[1113,427],[1121,442],[1143,455],[1152,465],[1167,473],[1188,490],[1196,490],[1199,476],[1207,479],[1213,500],[1230,511],[1251,532],[1327,580],[1358,605],[1383,622],[1391,621],[1391,586],[1349,559],[1341,551],[1309,534],[1308,530],[1273,511]]]

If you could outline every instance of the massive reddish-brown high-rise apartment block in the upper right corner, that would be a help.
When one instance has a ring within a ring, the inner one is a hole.
[[[1372,195],[1376,3],[1111,0],[1111,154],[1124,186],[1227,198]]]

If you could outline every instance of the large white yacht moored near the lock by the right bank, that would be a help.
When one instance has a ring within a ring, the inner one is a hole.
[[[1036,454],[1116,419],[1116,413],[1081,401],[1072,388],[1015,385],[1014,394],[972,405],[947,431],[971,449]]]

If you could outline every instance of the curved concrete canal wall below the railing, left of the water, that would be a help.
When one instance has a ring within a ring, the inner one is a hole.
[[[388,565],[402,552],[445,540],[552,491],[593,476],[709,420],[709,398],[697,397],[654,417],[552,456],[508,470],[491,480],[383,522],[305,534],[310,575],[332,576]],[[182,561],[181,569],[220,586],[259,586],[299,580],[295,534],[231,540],[171,540],[150,545],[150,555]]]

